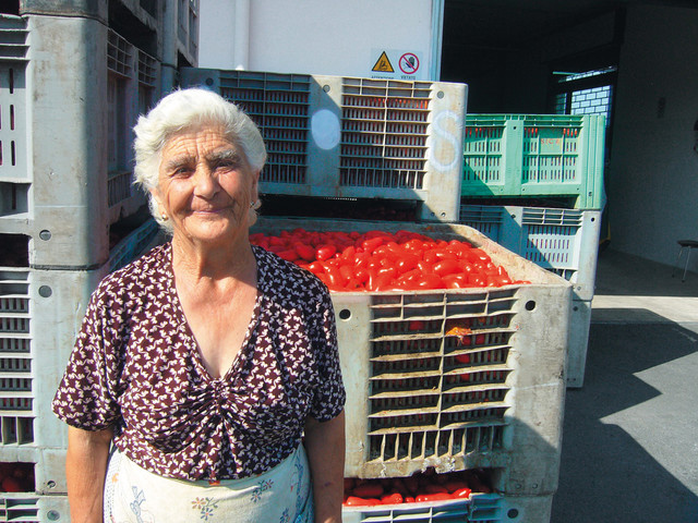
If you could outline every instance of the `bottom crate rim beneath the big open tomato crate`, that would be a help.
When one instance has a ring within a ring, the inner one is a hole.
[[[467,501],[345,507],[345,523],[549,523],[552,496],[473,494]]]

